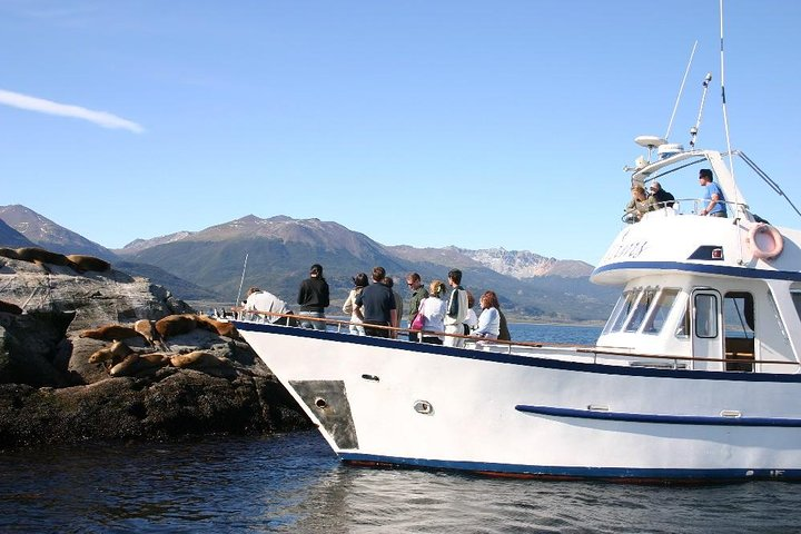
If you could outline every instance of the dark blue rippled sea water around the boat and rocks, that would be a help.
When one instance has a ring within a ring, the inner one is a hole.
[[[600,327],[511,325],[593,343]],[[641,486],[342,465],[317,432],[0,452],[0,533],[801,532],[801,484]]]

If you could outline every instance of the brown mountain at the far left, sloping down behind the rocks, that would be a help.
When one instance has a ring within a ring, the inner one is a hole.
[[[57,225],[24,206],[0,206],[0,219],[34,243],[36,246],[53,253],[85,254],[111,263],[118,259],[117,255],[108,248]]]

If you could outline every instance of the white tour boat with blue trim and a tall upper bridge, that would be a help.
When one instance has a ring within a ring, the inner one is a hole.
[[[346,463],[557,479],[801,478],[801,233],[751,211],[734,161],[774,182],[748,156],[695,148],[692,136],[689,149],[636,138],[646,154],[630,181],[709,168],[729,216],[703,216],[706,202],[689,198],[622,221],[591,275],[622,286],[594,346],[455,348],[350,335],[334,320],[327,332],[236,327]]]

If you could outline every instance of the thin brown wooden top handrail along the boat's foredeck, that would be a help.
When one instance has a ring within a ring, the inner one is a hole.
[[[301,319],[301,320],[316,320],[316,322],[324,322],[329,325],[335,325],[338,327],[338,332],[340,332],[343,326],[350,326],[355,323],[352,323],[349,320],[339,320],[339,319],[328,319],[328,318],[320,318],[320,317],[308,317],[308,316],[300,316],[295,314],[276,314],[273,312],[261,312],[257,309],[245,309],[241,307],[234,307],[231,308],[231,312],[235,314],[238,313],[248,313],[254,315],[263,315],[266,317],[276,317],[276,318],[291,318],[291,319]],[[279,326],[279,325],[276,325]],[[778,359],[742,359],[742,358],[705,358],[701,356],[669,356],[664,354],[646,354],[646,353],[629,353],[627,348],[621,347],[619,349],[614,348],[603,348],[603,347],[595,347],[590,345],[582,345],[582,344],[567,344],[567,343],[548,343],[543,344],[540,342],[513,342],[513,340],[506,340],[506,339],[487,339],[485,337],[478,337],[478,336],[471,336],[471,335],[463,335],[463,334],[449,334],[446,332],[435,332],[435,330],[417,330],[412,328],[396,328],[393,326],[382,326],[382,325],[368,325],[370,328],[378,328],[384,330],[389,330],[392,333],[395,333],[395,335],[399,333],[406,333],[406,334],[431,334],[433,336],[449,336],[455,338],[462,338],[465,340],[471,342],[487,342],[492,343],[494,345],[505,345],[507,348],[506,350],[512,354],[513,347],[522,347],[522,348],[570,348],[575,350],[578,354],[587,354],[593,355],[593,362],[597,362],[599,355],[607,355],[607,356],[620,356],[620,357],[635,357],[635,358],[652,358],[652,359],[669,359],[669,360],[682,360],[682,362],[713,362],[713,363],[723,363],[723,364],[779,364],[779,365],[801,365],[799,362],[788,362],[788,360],[778,360]],[[422,343],[422,337],[418,337],[418,340],[415,343]]]

